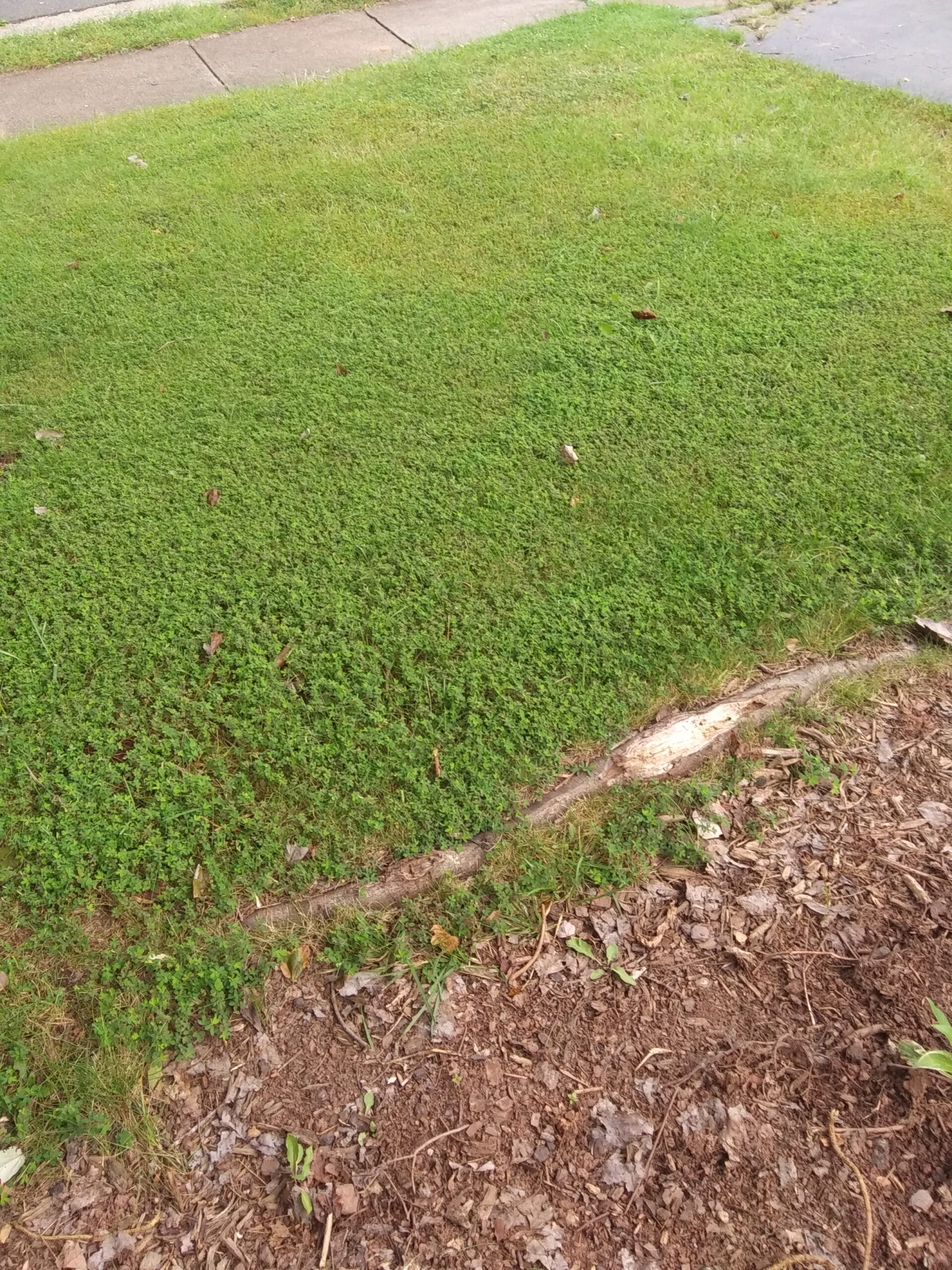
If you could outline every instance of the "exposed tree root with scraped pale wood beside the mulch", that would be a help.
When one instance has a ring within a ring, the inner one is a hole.
[[[741,724],[759,724],[781,706],[806,701],[833,679],[866,674],[890,662],[914,657],[916,645],[852,660],[816,662],[802,669],[762,679],[736,696],[650,724],[626,737],[594,768],[572,776],[564,785],[526,809],[517,823],[551,824],[579,799],[600,794],[628,781],[678,780],[688,776],[708,758],[722,753]],[[484,832],[459,851],[433,851],[426,856],[402,860],[387,869],[380,881],[352,883],[330,890],[298,895],[279,904],[255,908],[242,919],[249,930],[302,925],[308,918],[329,917],[343,908],[388,908],[429,890],[442,878],[472,878],[500,834]]]

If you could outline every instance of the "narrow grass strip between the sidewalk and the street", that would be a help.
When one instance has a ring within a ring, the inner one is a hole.
[[[195,39],[288,18],[359,8],[360,0],[225,0],[223,4],[170,5],[124,18],[80,22],[60,30],[5,36],[0,39],[0,72],[53,66],[80,57],[168,44],[173,39]]]

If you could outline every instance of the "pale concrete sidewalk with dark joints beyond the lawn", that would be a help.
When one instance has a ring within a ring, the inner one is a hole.
[[[14,71],[0,75],[0,137],[239,88],[325,79],[584,9],[584,0],[383,0],[99,61]]]

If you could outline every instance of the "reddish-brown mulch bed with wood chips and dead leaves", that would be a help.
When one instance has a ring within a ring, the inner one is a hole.
[[[910,1073],[896,1041],[935,1040],[927,997],[952,1006],[952,676],[906,674],[873,712],[802,732],[856,765],[839,792],[760,753],[703,874],[661,866],[553,909],[515,996],[505,975],[533,941],[484,945],[435,1025],[409,1031],[409,977],[341,996],[275,975],[267,1030],[249,1011],[154,1093],[190,1167],[136,1179],[74,1144],[62,1181],[0,1213],[0,1264],[305,1270],[333,1210],[336,1270],[753,1270],[797,1252],[859,1270],[835,1110],[872,1265],[948,1266],[952,1083]],[[751,838],[758,818],[773,823]],[[604,970],[609,944],[633,986]],[[288,1132],[314,1147],[312,1217]]]

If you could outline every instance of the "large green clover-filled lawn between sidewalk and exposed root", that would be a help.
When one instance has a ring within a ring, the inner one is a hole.
[[[8,1111],[30,1019],[222,1027],[240,902],[946,598],[951,122],[618,5],[0,145]]]

